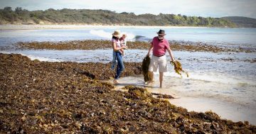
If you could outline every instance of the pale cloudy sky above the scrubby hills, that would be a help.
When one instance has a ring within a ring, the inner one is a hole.
[[[256,18],[256,0],[0,0],[0,9],[17,6],[29,11],[46,9],[104,9],[135,14],[168,13],[186,16]]]

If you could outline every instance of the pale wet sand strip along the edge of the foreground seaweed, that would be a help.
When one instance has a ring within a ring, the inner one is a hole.
[[[137,81],[133,81],[132,79],[137,79]],[[112,82],[109,80],[108,82]],[[146,88],[151,94],[168,94],[174,96],[174,99],[166,99],[171,104],[175,106],[181,106],[182,108],[186,108],[188,111],[196,111],[196,112],[206,112],[213,111],[218,114],[221,118],[225,118],[231,121],[249,121],[252,125],[256,125],[256,121],[253,117],[254,111],[247,106],[242,104],[235,104],[231,101],[223,101],[219,99],[207,98],[203,96],[184,96],[178,94],[175,90],[166,91],[166,87],[160,89],[158,86],[159,81],[156,79],[156,82],[152,86],[145,86],[142,84],[144,82],[143,78],[138,77],[123,77],[119,79],[121,84],[117,84],[115,86],[118,90],[123,90],[122,88],[127,85],[129,82],[130,85],[139,86],[142,88]],[[233,111],[231,114],[230,111]]]

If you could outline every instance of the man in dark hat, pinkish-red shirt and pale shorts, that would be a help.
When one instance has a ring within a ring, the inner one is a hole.
[[[153,50],[153,55],[151,57],[150,65],[149,65],[149,73],[156,72],[159,67],[159,82],[160,88],[162,87],[164,72],[167,72],[167,64],[166,64],[166,50],[169,52],[171,57],[171,61],[174,62],[174,55],[171,52],[170,45],[168,41],[164,38],[164,30],[159,30],[157,33],[158,36],[154,37],[151,42],[151,47],[149,48],[149,52]],[[152,75],[153,76],[153,75]],[[151,82],[149,82],[151,83]]]

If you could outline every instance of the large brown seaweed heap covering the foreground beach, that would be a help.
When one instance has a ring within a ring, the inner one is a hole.
[[[124,76],[142,73],[127,64]],[[256,126],[188,112],[146,89],[112,90],[101,63],[39,62],[0,54],[1,133],[256,133]],[[96,71],[95,71],[96,70]]]

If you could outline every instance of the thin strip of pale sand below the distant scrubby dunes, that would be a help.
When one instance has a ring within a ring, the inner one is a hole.
[[[33,30],[33,29],[78,29],[78,28],[219,28],[197,26],[102,26],[102,25],[0,25],[0,30]]]

